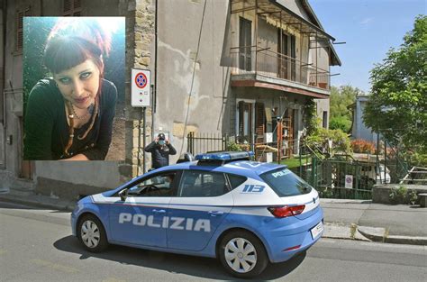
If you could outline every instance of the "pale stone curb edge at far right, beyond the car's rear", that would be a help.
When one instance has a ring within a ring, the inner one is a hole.
[[[386,228],[358,226],[358,231],[371,241],[393,244],[427,245],[427,237],[389,235]]]

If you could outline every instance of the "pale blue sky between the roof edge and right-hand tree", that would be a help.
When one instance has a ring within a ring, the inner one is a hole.
[[[403,43],[427,0],[309,0],[323,29],[335,38],[341,67],[332,67],[332,86],[350,85],[369,92],[369,71]]]

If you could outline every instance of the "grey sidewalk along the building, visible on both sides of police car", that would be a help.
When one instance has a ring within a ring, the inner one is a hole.
[[[0,193],[0,201],[72,211],[76,201],[49,196]],[[321,199],[325,238],[427,245],[427,208]]]

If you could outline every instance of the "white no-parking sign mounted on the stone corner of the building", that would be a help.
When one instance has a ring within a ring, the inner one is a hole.
[[[131,105],[150,106],[150,70],[132,68]]]

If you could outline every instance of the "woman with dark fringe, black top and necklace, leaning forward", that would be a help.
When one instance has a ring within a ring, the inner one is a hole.
[[[103,78],[109,42],[95,29],[81,36],[60,31],[57,24],[44,52],[53,77],[41,79],[28,98],[24,159],[105,159],[117,100],[114,84]]]

